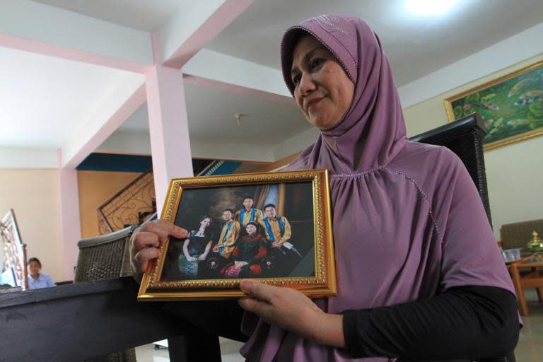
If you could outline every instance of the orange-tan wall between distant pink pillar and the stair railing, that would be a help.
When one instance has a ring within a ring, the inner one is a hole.
[[[139,175],[141,173],[77,172],[81,238],[91,238],[100,235],[98,232],[98,214],[96,209]]]

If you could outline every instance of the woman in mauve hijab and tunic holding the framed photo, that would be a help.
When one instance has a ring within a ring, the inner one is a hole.
[[[513,351],[513,286],[477,189],[446,148],[407,141],[392,71],[368,25],[318,16],[293,26],[281,42],[281,65],[298,107],[321,131],[290,169],[332,173],[338,293],[312,301],[242,281],[249,298],[239,303],[259,316],[244,320],[247,361]],[[137,250],[158,245],[158,237],[144,240]]]

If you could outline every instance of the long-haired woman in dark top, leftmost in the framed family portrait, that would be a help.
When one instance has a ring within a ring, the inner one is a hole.
[[[182,279],[198,278],[199,264],[206,259],[213,243],[212,223],[211,216],[202,216],[198,221],[197,228],[190,230],[188,237],[183,242],[183,253],[179,257]]]

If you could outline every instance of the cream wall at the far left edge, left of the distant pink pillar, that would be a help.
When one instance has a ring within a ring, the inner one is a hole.
[[[0,217],[15,211],[28,257],[37,257],[54,281],[62,281],[62,240],[57,170],[0,169]]]

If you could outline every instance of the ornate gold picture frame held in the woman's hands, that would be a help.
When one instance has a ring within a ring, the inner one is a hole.
[[[286,192],[286,194],[288,194],[288,192],[294,192],[295,194],[296,192],[298,192],[298,194],[301,192],[307,196],[305,199],[302,198],[302,202],[299,202],[299,200],[298,202],[293,201],[292,204],[287,206],[277,204],[277,207],[274,205],[273,209],[280,209],[279,215],[281,215],[283,211],[291,209],[293,210],[291,214],[304,214],[308,216],[307,220],[302,217],[303,220],[298,221],[297,225],[299,225],[300,228],[305,226],[305,230],[312,229],[310,230],[312,234],[300,233],[300,235],[305,235],[305,239],[308,238],[307,235],[313,235],[313,250],[310,248],[310,251],[303,256],[303,259],[300,260],[300,265],[305,263],[306,269],[308,266],[310,267],[312,260],[311,253],[313,253],[314,273],[313,275],[304,274],[303,276],[292,276],[292,274],[288,274],[288,276],[255,276],[254,279],[262,281],[264,284],[294,288],[310,297],[334,296],[337,291],[337,284],[334,262],[334,244],[332,240],[329,173],[327,170],[247,173],[173,179],[170,181],[170,187],[163,206],[161,218],[181,226],[180,221],[176,221],[176,217],[179,216],[181,212],[188,212],[186,210],[190,207],[186,206],[187,201],[183,201],[185,194],[187,194],[187,197],[191,197],[190,200],[197,199],[199,197],[198,195],[201,195],[200,200],[202,200],[204,199],[204,196],[202,195],[209,194],[210,192],[214,192],[215,194],[219,192],[233,193],[233,189],[239,190],[267,186],[275,187],[275,185],[277,185],[277,189],[279,189],[278,198],[280,197],[281,192]],[[270,194],[272,194],[271,191],[268,191],[267,197],[269,197]],[[310,197],[308,196],[309,194]],[[213,198],[211,198],[211,200],[216,201],[216,199]],[[222,199],[221,202],[223,202]],[[182,203],[185,206],[180,208]],[[192,204],[189,205],[194,204],[196,203],[192,202]],[[202,204],[204,203],[202,202]],[[271,212],[271,209],[271,207],[268,207],[266,210],[267,212]],[[226,210],[223,214],[224,213],[228,214]],[[293,222],[295,221],[291,221],[291,223]],[[227,222],[224,222],[223,225],[226,225],[226,223]],[[223,228],[224,227],[225,226],[223,226]],[[293,226],[292,235],[295,235],[295,232]],[[293,243],[301,243],[300,240],[302,240],[302,238],[298,238],[299,239],[296,240],[296,242],[293,241]],[[237,277],[214,277],[214,279],[199,279],[199,277],[197,277],[195,279],[163,280],[162,277],[166,270],[165,261],[166,259],[171,259],[168,257],[168,252],[170,252],[169,250],[173,250],[173,245],[170,246],[170,243],[174,242],[178,243],[179,241],[175,241],[173,237],[170,237],[160,245],[158,259],[155,259],[149,265],[148,270],[141,281],[138,300],[222,299],[240,298],[245,295],[239,288],[239,283],[242,278]],[[241,243],[241,241],[239,242]],[[218,241],[216,243],[218,243]],[[305,240],[305,244],[307,243],[308,240]],[[311,247],[311,245],[309,245],[309,247]],[[179,249],[179,247],[177,247],[177,249]],[[300,253],[298,253],[298,255],[300,255]],[[175,254],[175,257],[177,257],[177,254]],[[226,260],[228,262],[228,259]],[[307,262],[308,260],[309,262]],[[300,265],[296,265],[296,267],[298,268]],[[169,266],[168,270],[172,268],[176,269],[177,267],[177,262],[174,262],[173,267]]]

